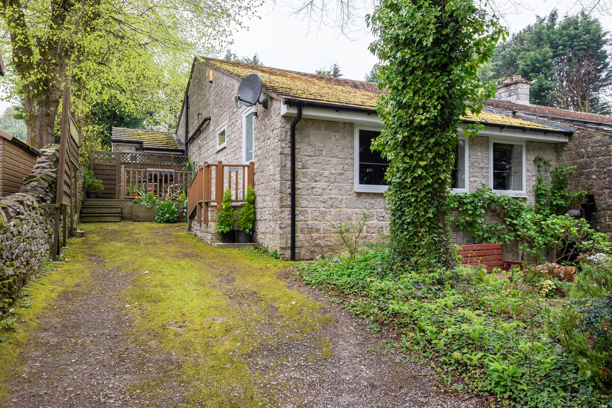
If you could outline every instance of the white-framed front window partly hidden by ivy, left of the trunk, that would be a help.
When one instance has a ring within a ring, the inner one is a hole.
[[[355,191],[380,193],[387,189],[384,174],[389,161],[370,149],[372,140],[379,133],[380,130],[373,128],[355,127]]]

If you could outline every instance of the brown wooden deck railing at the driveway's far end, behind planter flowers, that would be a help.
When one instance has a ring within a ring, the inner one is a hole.
[[[189,171],[173,169],[126,169],[121,166],[121,197],[131,191],[148,193],[155,196],[173,195],[187,187],[192,174]]]

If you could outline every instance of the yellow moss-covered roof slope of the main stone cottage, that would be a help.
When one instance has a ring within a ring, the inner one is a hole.
[[[340,106],[375,109],[378,95],[383,93],[375,83],[371,82],[332,78],[222,59],[204,58],[204,60],[212,67],[237,76],[239,79],[245,78],[253,72],[258,73],[263,80],[264,89],[278,98],[294,98]],[[483,124],[553,129],[547,125],[535,124],[518,117],[488,111],[482,111],[479,116],[468,115],[463,119],[465,121],[478,121]]]

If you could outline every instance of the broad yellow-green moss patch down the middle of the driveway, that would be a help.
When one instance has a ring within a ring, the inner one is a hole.
[[[177,375],[188,384],[194,406],[278,405],[258,389],[250,358],[331,321],[318,302],[278,279],[289,262],[209,247],[187,234],[184,224],[83,224],[83,229],[105,268],[133,271],[127,290],[133,339],[181,357]],[[329,340],[319,343],[309,359],[330,357]]]

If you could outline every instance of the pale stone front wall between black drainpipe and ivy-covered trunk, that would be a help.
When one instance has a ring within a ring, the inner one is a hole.
[[[354,135],[355,127],[348,123],[302,119],[297,125],[298,259],[316,258],[341,248],[340,237],[334,234],[332,224],[356,221],[364,211],[371,213],[362,235],[364,242],[378,240],[388,232],[383,194],[354,191]],[[286,234],[284,245],[278,251],[281,256],[289,254],[289,239]]]

